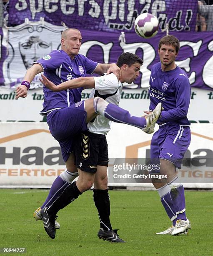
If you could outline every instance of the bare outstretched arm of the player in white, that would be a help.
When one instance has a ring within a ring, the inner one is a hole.
[[[95,80],[93,77],[79,77],[58,85],[53,84],[53,82],[51,82],[43,74],[41,77],[42,78],[39,78],[39,80],[45,85],[45,87],[49,88],[53,92],[60,92],[67,89],[76,89],[79,87],[83,87],[84,89],[95,88]]]

